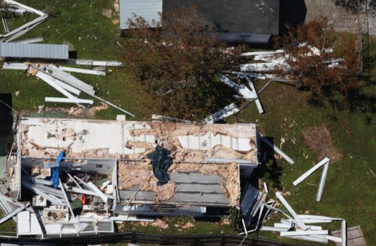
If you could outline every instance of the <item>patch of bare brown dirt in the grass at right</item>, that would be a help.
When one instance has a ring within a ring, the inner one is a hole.
[[[308,146],[317,152],[319,159],[328,157],[330,161],[337,161],[340,153],[333,146],[330,132],[325,124],[312,126],[303,132],[304,139]]]

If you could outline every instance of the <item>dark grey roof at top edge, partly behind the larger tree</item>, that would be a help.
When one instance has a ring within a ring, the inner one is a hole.
[[[163,11],[192,4],[205,25],[219,32],[278,34],[280,0],[163,0]]]

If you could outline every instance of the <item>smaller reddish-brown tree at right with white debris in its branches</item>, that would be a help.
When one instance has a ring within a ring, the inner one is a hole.
[[[343,95],[358,86],[360,51],[355,34],[336,33],[326,18],[288,27],[288,34],[276,39],[286,49],[288,69],[277,69],[281,76],[295,79],[295,85],[316,95]],[[312,51],[317,47],[318,53]]]

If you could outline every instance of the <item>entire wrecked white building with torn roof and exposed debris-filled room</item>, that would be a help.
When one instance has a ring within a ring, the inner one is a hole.
[[[241,193],[254,187],[240,180],[259,164],[256,136],[255,124],[21,118],[10,195],[33,209],[18,213],[18,236],[113,232],[114,221],[232,207],[253,214]],[[163,185],[150,159],[157,146],[172,160]]]

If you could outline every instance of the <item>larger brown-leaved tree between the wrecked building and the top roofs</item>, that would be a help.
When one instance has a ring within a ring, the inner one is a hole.
[[[214,29],[203,27],[195,6],[163,12],[152,23],[139,16],[129,20],[124,64],[161,113],[202,119],[229,104],[228,88],[217,75],[238,64],[241,48],[227,50]]]

